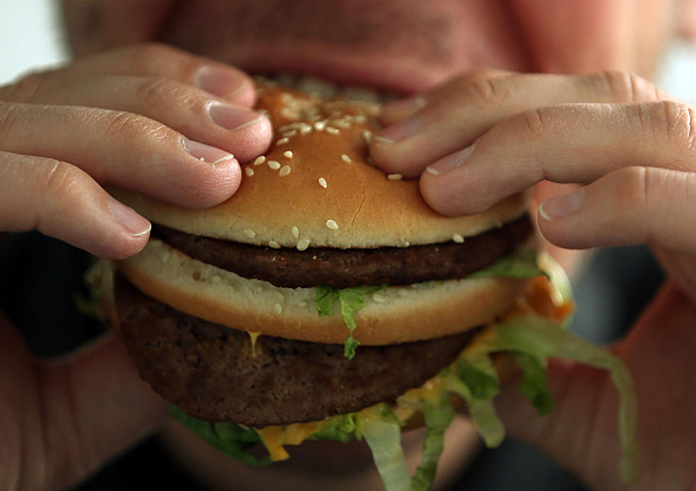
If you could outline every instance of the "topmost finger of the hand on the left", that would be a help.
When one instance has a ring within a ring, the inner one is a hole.
[[[229,102],[251,107],[256,100],[254,82],[241,70],[165,44],[128,45],[73,61],[65,68],[30,75],[18,82],[30,92],[40,81],[62,82],[95,75],[134,75],[178,80]],[[33,79],[39,79],[38,82]],[[0,92],[0,99],[2,92]]]

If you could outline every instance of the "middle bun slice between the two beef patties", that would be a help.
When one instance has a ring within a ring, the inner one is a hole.
[[[119,268],[146,295],[229,328],[335,344],[346,338],[340,315],[317,315],[316,288],[281,288],[245,279],[157,239],[121,261]],[[486,278],[388,287],[366,296],[365,308],[355,315],[354,336],[364,345],[389,345],[462,333],[508,311],[524,283]]]

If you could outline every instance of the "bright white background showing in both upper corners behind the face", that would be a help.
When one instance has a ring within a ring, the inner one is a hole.
[[[58,0],[0,0],[0,85],[28,70],[67,59],[56,4]],[[658,85],[696,103],[695,82],[696,47],[674,45]]]

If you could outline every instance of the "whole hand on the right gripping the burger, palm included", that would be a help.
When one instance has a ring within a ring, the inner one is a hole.
[[[572,249],[650,244],[669,279],[613,347],[634,376],[642,479],[696,485],[696,109],[626,73],[481,71],[394,102],[371,143],[390,173],[420,178],[446,215],[480,212],[542,180],[582,187],[541,203],[540,230]],[[605,372],[554,361],[557,409],[504,392],[510,433],[596,489],[619,489],[617,396]]]

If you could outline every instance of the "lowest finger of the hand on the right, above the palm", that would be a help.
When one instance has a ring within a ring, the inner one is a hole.
[[[658,244],[696,251],[696,173],[626,167],[539,207],[541,232],[571,249]]]

